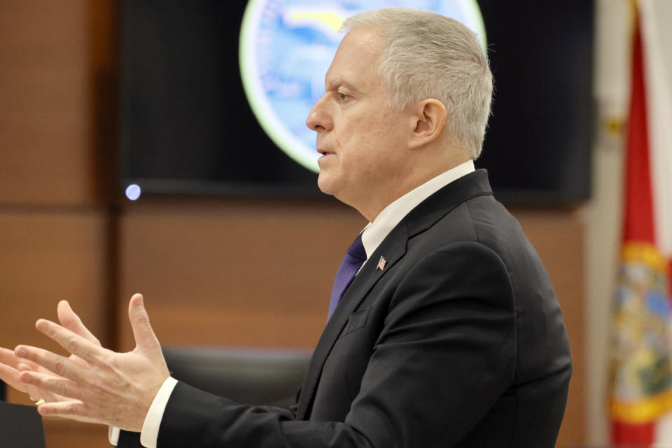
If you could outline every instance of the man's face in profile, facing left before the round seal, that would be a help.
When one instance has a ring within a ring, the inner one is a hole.
[[[325,76],[325,94],[306,121],[317,132],[322,154],[319,188],[365,216],[368,202],[386,200],[386,188],[402,174],[405,130],[412,124],[404,111],[387,106],[376,73],[385,49],[374,32],[350,31]]]

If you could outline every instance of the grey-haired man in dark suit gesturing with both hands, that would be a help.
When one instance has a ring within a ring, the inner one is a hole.
[[[120,447],[554,447],[568,340],[538,255],[473,166],[492,92],[484,52],[433,13],[375,10],[344,27],[307,125],[321,190],[370,224],[339,268],[297,405],[240,405],[169,378],[134,295],[130,353],[97,346],[65,302],[63,326],[37,327],[71,358],[0,353],[24,364],[0,376],[45,398],[41,414],[118,426]]]

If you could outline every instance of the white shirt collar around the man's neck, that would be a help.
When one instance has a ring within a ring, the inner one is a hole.
[[[383,242],[389,232],[401,221],[404,216],[418,206],[423,200],[436,193],[438,190],[447,186],[452,181],[475,172],[474,161],[468,160],[447,172],[439,174],[433,179],[426,181],[421,186],[409,191],[398,200],[381,211],[372,223],[368,223],[362,233],[362,243],[368,259],[372,253]]]

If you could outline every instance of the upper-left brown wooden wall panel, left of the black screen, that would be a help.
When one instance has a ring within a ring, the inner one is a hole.
[[[91,4],[0,1],[0,203],[97,198]]]

